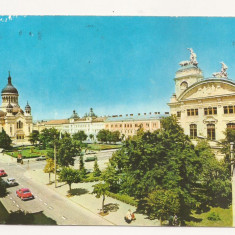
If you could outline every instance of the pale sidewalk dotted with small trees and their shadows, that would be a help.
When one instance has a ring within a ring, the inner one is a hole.
[[[37,180],[41,184],[48,184],[48,174],[44,173],[43,170],[28,170],[25,172],[26,176],[30,176],[32,179]],[[51,174],[51,180],[54,179],[54,174]],[[73,201],[74,203],[86,208],[94,214],[98,214],[102,207],[102,198],[96,198],[94,194],[91,194],[93,187],[92,185],[97,182],[92,183],[77,183],[72,184],[72,190],[77,195],[69,197],[68,200]],[[64,182],[58,182],[57,188],[55,185],[47,185],[51,190],[56,191],[57,193],[66,197],[68,194],[69,186]],[[124,220],[128,209],[131,209],[132,212],[136,210],[134,206],[128,205],[126,203],[120,202],[116,199],[107,197],[105,198],[105,205],[109,204],[113,210],[109,212],[108,215],[105,215],[104,218],[112,222],[115,225],[128,225],[128,226],[160,226],[158,220],[149,220],[145,215],[136,214],[136,220],[132,221],[130,224],[127,224]]]

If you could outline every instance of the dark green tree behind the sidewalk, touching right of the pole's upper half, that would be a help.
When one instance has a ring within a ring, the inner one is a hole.
[[[74,165],[74,157],[81,154],[81,146],[71,137],[64,137],[58,141],[57,162],[60,166]]]

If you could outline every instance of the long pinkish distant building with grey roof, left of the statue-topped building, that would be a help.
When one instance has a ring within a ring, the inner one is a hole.
[[[139,128],[143,128],[144,131],[153,132],[160,128],[160,120],[164,116],[168,116],[169,113],[161,115],[160,112],[144,113],[144,114],[126,114],[114,115],[108,117],[105,120],[105,129],[109,131],[119,131],[121,136],[126,139],[127,137],[137,134]]]

